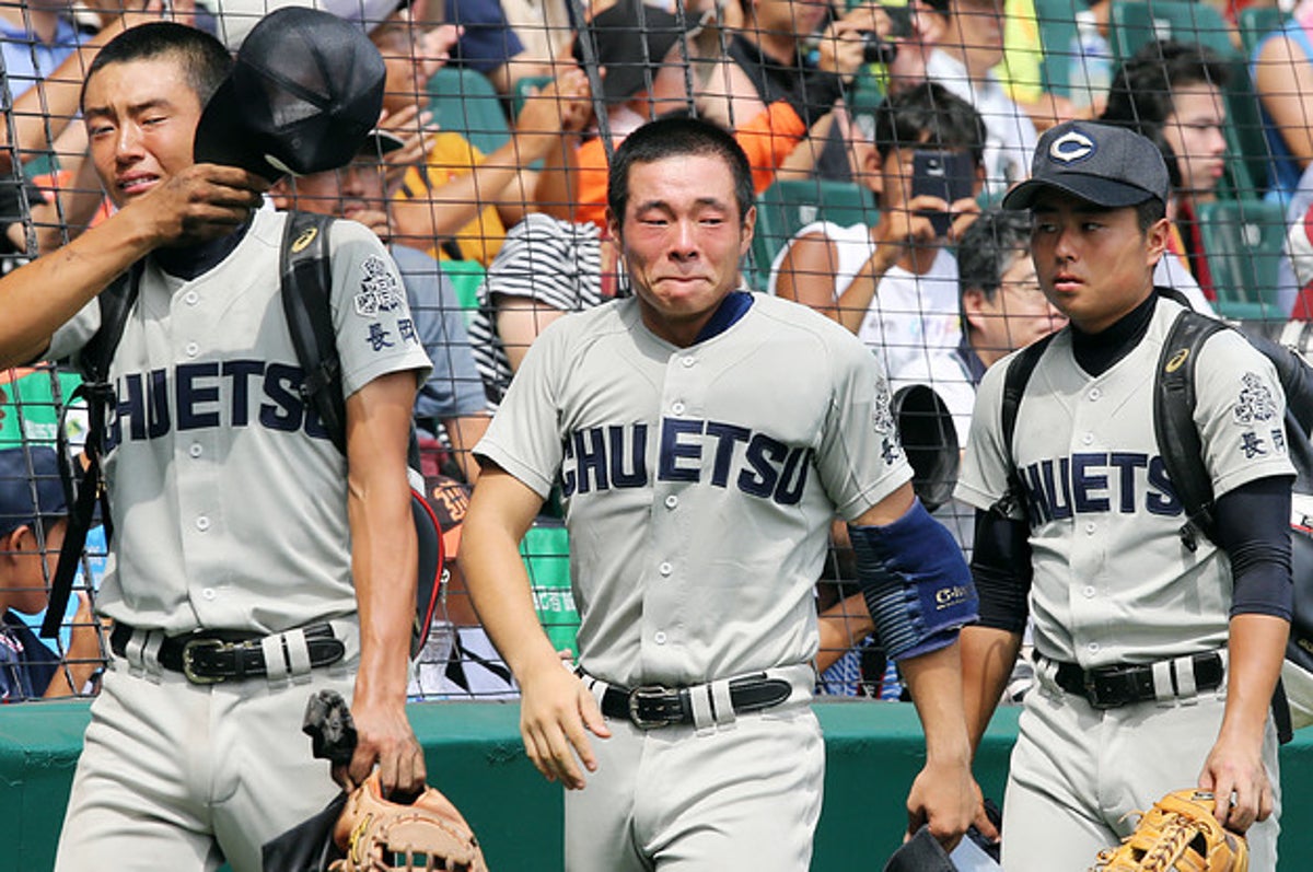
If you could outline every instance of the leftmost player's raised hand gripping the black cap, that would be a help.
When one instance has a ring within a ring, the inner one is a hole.
[[[119,214],[138,217],[156,246],[186,246],[236,230],[260,207],[269,183],[253,172],[194,164],[130,201]]]

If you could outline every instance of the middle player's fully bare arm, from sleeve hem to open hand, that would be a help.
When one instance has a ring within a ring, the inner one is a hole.
[[[562,667],[533,608],[519,546],[541,507],[533,489],[486,465],[465,516],[460,565],[479,621],[520,683],[525,752],[549,781],[578,789],[579,763],[597,768],[587,733],[607,738],[611,730],[592,693]]]

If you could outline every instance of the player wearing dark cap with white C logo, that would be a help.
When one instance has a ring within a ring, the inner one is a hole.
[[[981,622],[962,633],[973,742],[1035,624],[1003,813],[1008,872],[1086,868],[1165,793],[1197,785],[1246,833],[1251,869],[1276,868],[1270,717],[1291,613],[1292,466],[1268,360],[1222,331],[1196,362],[1195,420],[1220,546],[1183,541],[1182,503],[1154,433],[1154,380],[1182,306],[1154,293],[1167,169],[1144,137],[1087,122],[1040,139],[1031,209],[1045,295],[1070,323],[1031,374],[1011,444],[1004,374],[985,373],[957,495],[977,513]],[[1012,471],[1019,490],[1004,500]]]

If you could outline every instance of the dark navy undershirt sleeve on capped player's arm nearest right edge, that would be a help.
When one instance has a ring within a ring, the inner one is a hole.
[[[1268,477],[1217,498],[1217,545],[1232,562],[1232,617],[1291,619],[1291,479]]]

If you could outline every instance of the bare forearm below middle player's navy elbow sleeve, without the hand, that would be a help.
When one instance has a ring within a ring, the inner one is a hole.
[[[964,766],[972,745],[962,709],[958,643],[898,662],[926,733],[926,764]]]

